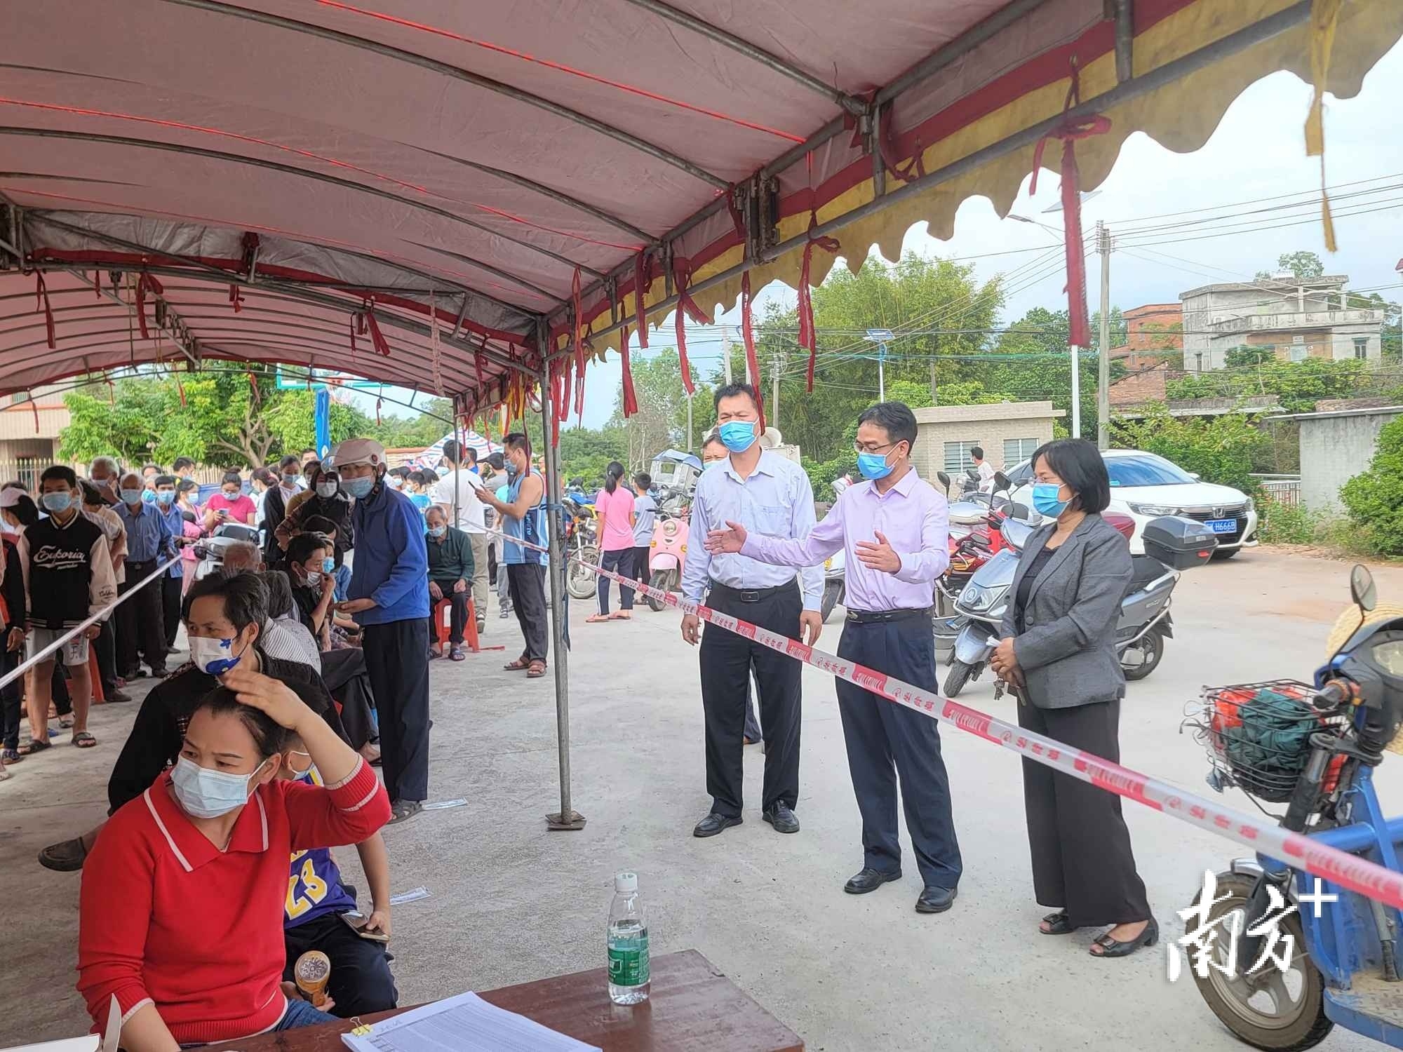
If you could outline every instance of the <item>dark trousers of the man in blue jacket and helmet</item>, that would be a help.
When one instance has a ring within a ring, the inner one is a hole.
[[[380,717],[384,790],[391,802],[428,800],[429,621],[368,624],[361,630],[361,649]]]

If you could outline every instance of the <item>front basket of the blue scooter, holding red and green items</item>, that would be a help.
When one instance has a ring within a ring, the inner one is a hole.
[[[1204,687],[1198,727],[1207,732],[1218,780],[1226,774],[1274,804],[1291,800],[1310,755],[1310,735],[1341,722],[1312,708],[1306,699],[1313,694],[1309,683],[1291,679]]]

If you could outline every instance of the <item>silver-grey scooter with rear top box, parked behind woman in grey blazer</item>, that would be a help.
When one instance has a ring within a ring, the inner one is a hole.
[[[1009,547],[975,572],[955,602],[955,614],[968,620],[954,641],[944,685],[947,697],[978,679],[999,645],[1003,614],[1013,600],[1013,574],[1033,526],[1020,518],[1007,518],[999,532]],[[1142,536],[1146,554],[1131,555],[1134,575],[1115,626],[1121,669],[1125,679],[1132,680],[1145,679],[1156,669],[1164,656],[1164,640],[1173,638],[1169,606],[1180,571],[1204,565],[1218,547],[1216,537],[1204,523],[1172,515],[1152,519]],[[939,634],[939,619],[936,630]]]

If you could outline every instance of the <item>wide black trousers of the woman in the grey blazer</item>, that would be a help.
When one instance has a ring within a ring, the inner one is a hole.
[[[1121,760],[1120,721],[1120,701],[1073,708],[1019,704],[1019,727],[1114,763]],[[1023,805],[1038,903],[1061,906],[1078,927],[1150,917],[1120,797],[1024,760]]]

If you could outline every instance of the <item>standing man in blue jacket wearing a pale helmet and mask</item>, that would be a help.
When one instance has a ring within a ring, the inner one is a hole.
[[[393,816],[424,809],[429,794],[429,578],[424,519],[384,481],[384,446],[347,439],[328,460],[355,498],[351,598],[337,605],[361,626],[365,669],[380,720],[380,762]]]

